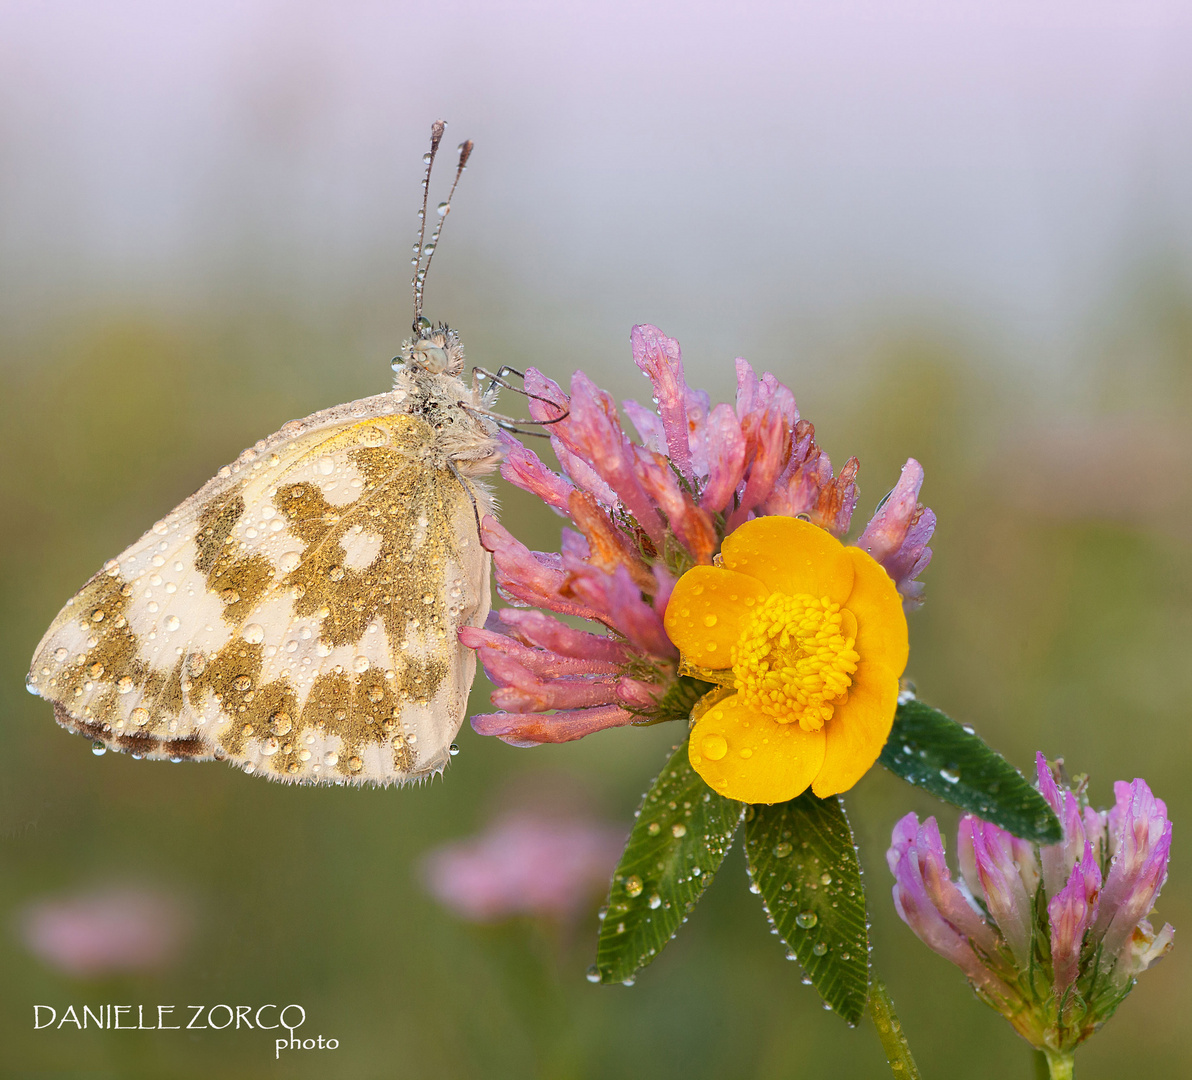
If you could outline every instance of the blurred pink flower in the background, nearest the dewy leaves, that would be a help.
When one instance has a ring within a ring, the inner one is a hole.
[[[563,921],[606,892],[625,838],[620,825],[515,811],[479,836],[430,851],[422,879],[440,904],[464,919],[541,915]]]

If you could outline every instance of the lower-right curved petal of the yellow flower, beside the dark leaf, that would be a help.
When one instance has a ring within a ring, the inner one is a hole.
[[[862,657],[849,700],[824,725],[824,765],[812,782],[820,799],[848,792],[873,768],[894,726],[896,707],[898,675]]]

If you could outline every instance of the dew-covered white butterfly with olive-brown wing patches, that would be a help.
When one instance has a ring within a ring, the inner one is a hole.
[[[507,384],[465,386],[459,335],[422,317],[472,150],[424,243],[443,126],[423,159],[414,335],[393,389],[246,449],[107,561],[38,645],[29,689],[97,752],[297,783],[403,783],[446,765],[476,674],[457,632],[491,603],[479,478],[501,460],[490,406]]]

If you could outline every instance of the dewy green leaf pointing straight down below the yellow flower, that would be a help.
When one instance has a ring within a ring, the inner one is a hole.
[[[869,989],[869,924],[840,799],[805,792],[790,802],[751,807],[745,858],[770,923],[819,995],[856,1024]]]

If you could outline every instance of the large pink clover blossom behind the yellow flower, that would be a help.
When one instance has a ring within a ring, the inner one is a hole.
[[[555,472],[503,435],[502,476],[569,519],[559,552],[534,552],[495,519],[482,522],[497,589],[517,606],[484,628],[460,631],[496,684],[498,712],[472,718],[480,734],[516,746],[561,743],[607,727],[687,719],[708,685],[679,671],[663,625],[675,582],[710,565],[724,538],[765,515],[799,516],[844,535],[857,503],[856,458],[838,474],[772,374],[737,360],[737,403],[712,405],[687,385],[678,342],[656,327],[631,335],[657,410],[616,403],[583,372],[571,393],[526,373],[529,411],[545,422]],[[560,420],[561,417],[561,420]],[[935,515],[917,502],[923,468],[913,459],[857,540],[880,561],[906,606],[931,559]],[[595,632],[557,615],[586,620]]]

